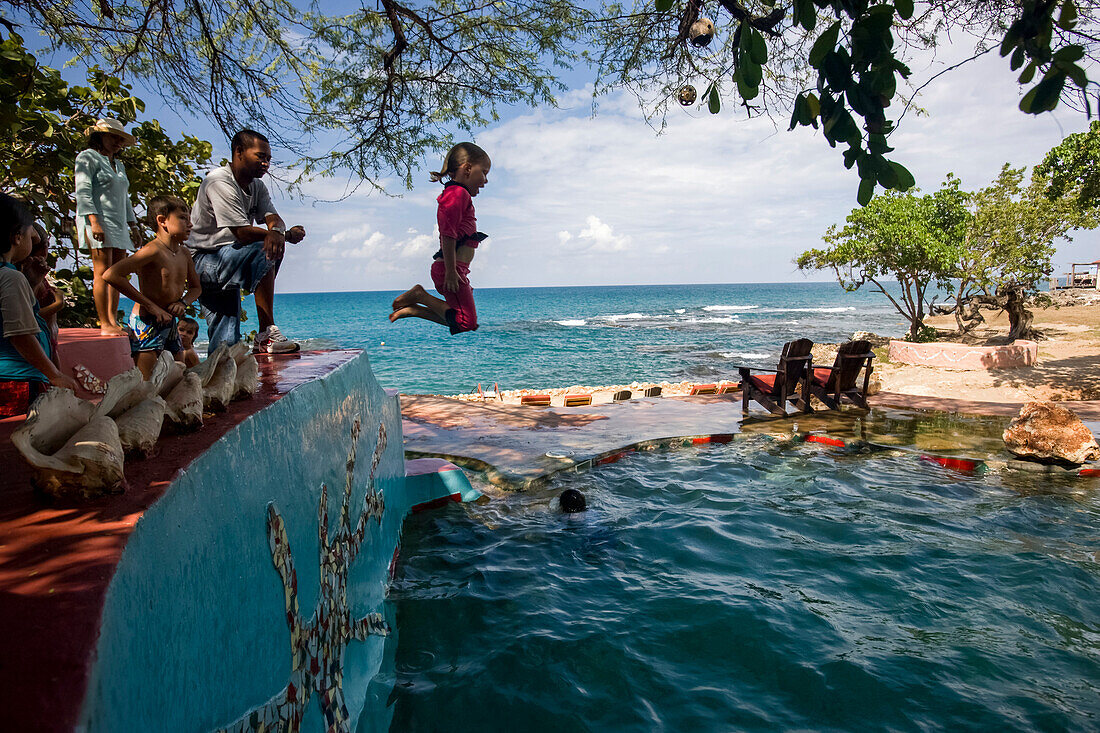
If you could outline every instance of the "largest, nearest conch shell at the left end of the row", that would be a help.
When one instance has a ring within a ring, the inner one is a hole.
[[[125,489],[114,420],[68,390],[35,401],[11,441],[34,471],[34,485],[56,497],[91,499]]]

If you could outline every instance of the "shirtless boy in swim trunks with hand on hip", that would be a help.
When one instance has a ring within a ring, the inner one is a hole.
[[[138,304],[130,316],[130,351],[146,380],[162,351],[182,351],[176,319],[202,293],[183,244],[191,231],[191,207],[175,196],[157,196],[148,203],[148,218],[156,227],[153,241],[103,273],[105,281]],[[133,273],[136,288],[130,284]]]

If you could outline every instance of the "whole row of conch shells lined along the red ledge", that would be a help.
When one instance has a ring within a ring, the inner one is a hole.
[[[113,376],[99,404],[51,389],[11,440],[34,485],[54,497],[90,499],[125,488],[125,456],[152,456],[162,431],[202,427],[202,413],[255,394],[260,368],[248,344],[220,346],[189,370],[162,352],[147,381],[138,368]]]

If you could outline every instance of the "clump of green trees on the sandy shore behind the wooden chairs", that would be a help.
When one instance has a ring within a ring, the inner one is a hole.
[[[982,308],[1004,310],[1009,338],[1032,338],[1028,302],[1049,276],[1055,241],[1074,229],[1100,225],[1100,211],[1081,211],[1072,196],[1050,200],[1037,172],[1024,184],[1024,168],[1005,164],[997,179],[975,192],[954,174],[935,194],[887,194],[857,208],[846,226],[831,227],[826,249],[803,252],[801,270],[833,270],[848,291],[872,284],[909,321],[909,338],[921,336],[924,316],[954,314],[960,332],[983,322]],[[901,296],[883,287],[901,284]],[[936,306],[937,291],[952,294]]]

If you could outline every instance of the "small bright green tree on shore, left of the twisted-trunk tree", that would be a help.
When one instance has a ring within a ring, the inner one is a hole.
[[[909,339],[920,340],[934,292],[949,286],[970,218],[958,194],[954,185],[931,196],[873,198],[853,209],[843,229],[828,228],[826,249],[807,250],[795,263],[800,270],[832,270],[849,293],[870,284],[909,321]],[[901,286],[897,297],[886,287],[889,280]]]

